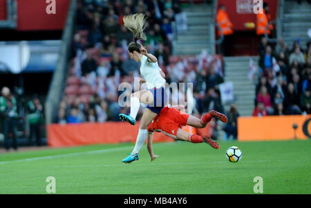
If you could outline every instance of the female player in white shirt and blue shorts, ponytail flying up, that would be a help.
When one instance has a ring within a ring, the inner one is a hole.
[[[142,82],[146,82],[148,90],[140,90],[131,94],[131,112],[130,115],[119,114],[122,121],[129,121],[131,125],[135,125],[135,118],[140,109],[140,103],[146,103],[147,108],[144,110],[140,121],[140,128],[136,138],[133,152],[122,160],[123,163],[131,163],[138,160],[138,152],[144,144],[148,135],[148,126],[157,116],[162,108],[167,105],[167,93],[165,90],[166,81],[164,72],[158,66],[156,56],[149,54],[143,45],[137,43],[138,40],[146,40],[144,35],[144,14],[132,14],[123,17],[123,22],[134,36],[135,41],[129,43],[128,50],[131,59],[140,61],[140,74],[142,74]]]

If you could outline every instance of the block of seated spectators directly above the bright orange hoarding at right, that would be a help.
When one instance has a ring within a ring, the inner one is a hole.
[[[258,47],[259,76],[253,116],[311,113],[311,44],[292,47],[280,38],[271,45],[263,37]]]

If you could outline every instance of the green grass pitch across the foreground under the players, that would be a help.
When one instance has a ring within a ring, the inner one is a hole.
[[[229,163],[228,147],[243,158]],[[311,194],[311,141],[223,142],[220,149],[187,142],[145,147],[140,160],[121,163],[133,144],[91,145],[0,155],[0,194],[46,194],[46,178],[56,194],[254,194],[255,176],[263,194]],[[27,159],[27,160],[26,160]]]

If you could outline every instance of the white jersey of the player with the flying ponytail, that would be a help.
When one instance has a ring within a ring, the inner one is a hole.
[[[142,55],[142,59],[140,60],[140,74],[142,74],[142,78],[147,83],[148,89],[153,89],[154,87],[160,88],[164,86],[166,82],[165,79],[160,74],[160,67],[158,63],[150,63],[147,56]]]

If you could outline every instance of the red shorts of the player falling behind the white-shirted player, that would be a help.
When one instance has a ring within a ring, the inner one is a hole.
[[[189,114],[180,112],[175,108],[164,107],[160,114],[153,119],[148,127],[148,132],[162,132],[176,139],[178,128],[187,125]]]

